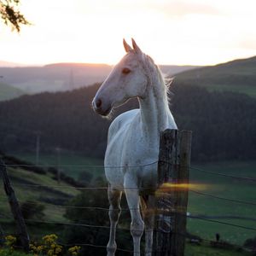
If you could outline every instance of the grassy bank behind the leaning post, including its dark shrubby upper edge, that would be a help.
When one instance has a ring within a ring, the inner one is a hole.
[[[56,209],[54,204],[65,205],[75,195],[79,195],[79,190],[75,189],[74,186],[79,186],[81,183],[76,183],[72,178],[63,174],[61,174],[60,183],[58,183],[54,169],[47,170],[31,166],[32,164],[29,162],[3,153],[0,154],[0,157],[6,165],[12,165],[7,167],[7,172],[20,206],[29,202],[32,207],[33,204],[39,202],[40,205],[44,206],[44,218],[47,220],[65,219],[63,216],[65,208],[59,207]],[[61,188],[61,186],[64,187]],[[1,217],[11,216],[3,186],[0,187],[0,200]],[[6,220],[7,222],[10,221],[9,218]]]

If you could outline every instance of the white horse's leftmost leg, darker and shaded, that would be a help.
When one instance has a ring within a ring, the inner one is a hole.
[[[115,231],[116,225],[119,221],[119,216],[121,213],[120,200],[122,192],[117,189],[108,188],[108,201],[109,201],[109,211],[108,216],[110,219],[110,234],[109,241],[107,246],[108,256],[113,256],[116,251],[116,242],[115,242]]]

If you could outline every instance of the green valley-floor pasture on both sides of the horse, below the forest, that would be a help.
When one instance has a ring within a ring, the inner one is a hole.
[[[34,160],[32,154],[20,154],[25,160]],[[49,154],[40,156],[40,164],[55,165],[56,158]],[[93,174],[91,185],[97,177],[104,177],[103,168],[100,167],[76,167],[76,166],[101,166],[103,161],[96,158],[86,158],[83,155],[61,155],[60,165],[62,172],[78,178],[79,173],[86,171]],[[75,166],[75,167],[72,167]],[[256,161],[224,161],[211,162],[206,164],[192,163],[190,169],[190,183],[199,184],[194,190],[206,195],[189,192],[188,212],[193,215],[200,215],[202,218],[211,216],[213,220],[237,224],[245,227],[256,229],[255,212],[256,206],[237,203],[233,201],[220,200],[209,197],[214,195],[226,199],[254,202],[256,195],[256,186],[253,182],[241,179],[222,177],[207,172],[200,172],[195,168],[207,170],[211,172],[224,173],[238,177],[254,177],[256,176]],[[61,212],[59,212],[61,213]],[[121,218],[122,215],[121,214]],[[253,219],[254,218],[254,219]],[[202,238],[215,240],[215,234],[219,233],[221,239],[230,243],[242,245],[245,240],[255,236],[254,230],[246,230],[227,224],[212,223],[207,220],[196,218],[187,219],[187,228],[189,233],[201,236]]]

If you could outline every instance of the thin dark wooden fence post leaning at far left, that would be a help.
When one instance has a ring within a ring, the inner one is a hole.
[[[17,226],[17,233],[18,233],[17,235],[20,238],[20,244],[23,247],[23,250],[25,252],[28,252],[29,236],[26,231],[26,224],[20,211],[19,202],[17,201],[17,198],[15,196],[15,190],[12,188],[9,180],[9,176],[6,172],[6,166],[4,165],[3,160],[1,159],[0,159],[0,171],[2,172],[4,190],[9,199],[9,206],[15,218],[15,223]]]

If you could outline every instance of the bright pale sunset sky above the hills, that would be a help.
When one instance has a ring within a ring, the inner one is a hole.
[[[157,64],[256,55],[255,0],[20,0],[32,26],[0,24],[0,60],[115,64],[134,38]]]

